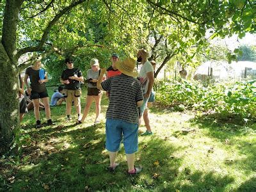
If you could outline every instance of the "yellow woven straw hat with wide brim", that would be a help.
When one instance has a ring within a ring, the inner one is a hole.
[[[136,61],[132,58],[126,58],[124,61],[117,61],[116,68],[127,76],[138,77],[138,72],[135,69]]]

